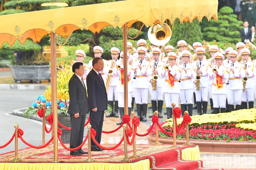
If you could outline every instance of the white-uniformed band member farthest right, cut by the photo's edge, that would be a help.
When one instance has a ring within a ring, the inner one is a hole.
[[[255,63],[249,61],[249,55],[251,54],[251,51],[248,48],[243,48],[240,51],[240,54],[242,55],[243,61],[245,61],[245,64],[243,62],[243,66],[245,67],[245,74],[248,77],[248,80],[245,83],[245,91],[243,92],[242,96],[242,109],[247,109],[247,101],[249,103],[249,108],[253,108],[253,94],[255,86],[254,77],[256,75]]]

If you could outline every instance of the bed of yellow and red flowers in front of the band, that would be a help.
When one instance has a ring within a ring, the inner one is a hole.
[[[256,109],[244,109],[231,113],[204,114],[191,116],[189,123],[190,139],[256,141]],[[180,124],[183,118],[177,119]],[[160,123],[167,132],[172,132],[172,119]],[[148,130],[151,127],[148,128]],[[173,137],[158,128],[160,137]],[[151,135],[156,134],[155,125]],[[186,138],[186,130],[177,134],[178,139]]]

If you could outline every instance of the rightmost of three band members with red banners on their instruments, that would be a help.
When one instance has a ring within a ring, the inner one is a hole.
[[[214,113],[225,113],[226,111],[226,98],[227,98],[227,85],[228,72],[227,68],[223,66],[224,55],[220,52],[214,54],[216,66],[209,71],[209,80],[212,80],[212,100]],[[216,72],[213,72],[216,69]],[[220,108],[220,110],[219,110]]]

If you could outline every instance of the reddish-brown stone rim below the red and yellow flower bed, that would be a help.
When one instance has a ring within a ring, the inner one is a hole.
[[[156,142],[156,137],[148,135],[148,144]],[[173,144],[173,138],[159,137],[163,144]],[[256,153],[256,141],[216,141],[191,139],[190,143],[199,146],[201,152],[232,152],[232,153]],[[176,140],[178,145],[186,143],[186,139]]]

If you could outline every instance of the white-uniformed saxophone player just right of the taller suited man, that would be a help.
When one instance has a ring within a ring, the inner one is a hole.
[[[110,53],[111,53],[112,60],[109,60],[107,64],[108,64],[108,68],[111,69],[112,62],[114,61],[115,64],[112,68],[114,71],[116,66],[121,64],[121,62],[117,59],[119,56],[120,50],[116,47],[113,47],[110,49]],[[110,80],[107,80],[109,81],[108,92],[107,92],[108,104],[113,108],[114,112],[111,112],[109,115],[106,115],[106,117],[118,117],[118,95],[116,92],[116,86],[118,84],[119,78],[114,76],[115,75],[113,72],[113,75],[111,75]],[[114,101],[113,101],[114,96],[115,96],[115,110],[114,110]]]

